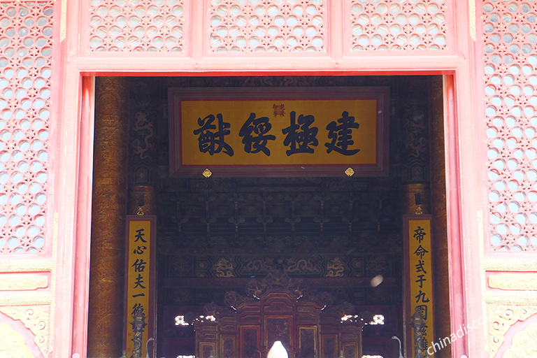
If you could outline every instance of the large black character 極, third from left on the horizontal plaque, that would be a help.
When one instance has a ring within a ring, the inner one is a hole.
[[[287,150],[287,156],[295,153],[313,153],[313,148],[310,145],[317,147],[319,141],[317,141],[317,127],[311,127],[315,117],[313,115],[299,115],[299,124],[295,124],[296,112],[291,112],[291,125],[282,129],[283,134],[287,134],[283,145],[291,145],[291,149]],[[298,131],[301,129],[301,131]],[[296,146],[298,145],[298,148]]]

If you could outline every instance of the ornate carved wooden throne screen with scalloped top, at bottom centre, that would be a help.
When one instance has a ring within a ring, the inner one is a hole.
[[[224,302],[194,321],[196,358],[266,358],[275,341],[289,358],[361,358],[364,319],[354,306],[334,306],[327,292],[308,295],[299,279],[252,279],[246,296],[227,292]]]

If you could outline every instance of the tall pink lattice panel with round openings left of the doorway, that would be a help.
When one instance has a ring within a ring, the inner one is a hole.
[[[52,2],[0,1],[0,253],[44,250]]]

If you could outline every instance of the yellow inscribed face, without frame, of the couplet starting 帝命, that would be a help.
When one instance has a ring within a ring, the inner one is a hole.
[[[406,250],[406,275],[408,276],[408,294],[406,300],[408,315],[420,312],[425,322],[422,330],[418,332],[418,342],[422,350],[427,350],[433,336],[433,275],[431,255],[431,219],[429,215],[422,215],[420,219],[408,220],[408,250]],[[412,332],[412,350],[414,357],[415,332]]]

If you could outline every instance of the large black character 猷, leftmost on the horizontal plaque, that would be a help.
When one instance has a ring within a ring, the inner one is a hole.
[[[203,118],[203,120],[201,117],[198,118],[198,124],[201,128],[196,129],[194,131],[194,135],[199,135],[199,151],[202,153],[208,152],[210,155],[213,155],[224,150],[224,153],[229,155],[229,157],[233,157],[233,148],[231,148],[231,146],[227,144],[224,139],[224,136],[227,136],[231,133],[231,131],[229,131],[231,124],[224,122],[222,119],[222,113],[218,113],[216,118],[218,122],[217,131],[211,130],[216,129],[215,124],[213,124],[215,121],[215,115],[208,115],[207,117]]]

